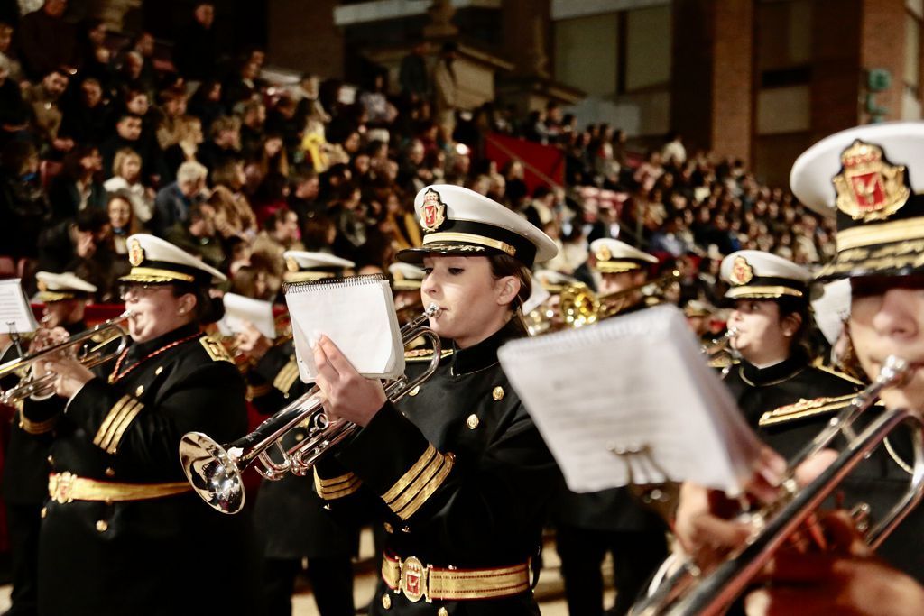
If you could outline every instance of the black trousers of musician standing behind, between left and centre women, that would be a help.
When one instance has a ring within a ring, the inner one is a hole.
[[[301,561],[266,559],[263,598],[268,616],[290,616]],[[348,556],[314,558],[306,571],[321,616],[353,616],[353,562]]]

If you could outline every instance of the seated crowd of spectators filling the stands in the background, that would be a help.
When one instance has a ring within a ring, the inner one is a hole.
[[[34,291],[34,272],[76,272],[97,301],[117,301],[126,238],[148,232],[227,272],[227,290],[274,300],[286,249],[387,271],[419,245],[413,199],[431,183],[544,229],[561,250],[540,268],[574,273],[590,241],[618,236],[683,272],[687,298],[721,296],[719,261],[740,248],[803,264],[833,251],[832,223],[680,135],[639,153],[557,103],[461,108],[454,43],[419,43],[391,88],[374,68],[358,87],[311,74],[281,84],[264,79],[260,48],[215,53],[214,10],[196,6],[165,55],[150,33],[71,23],[66,0],[0,22],[4,275]],[[564,185],[529,187],[529,161],[499,167],[484,154],[492,133],[559,149]]]

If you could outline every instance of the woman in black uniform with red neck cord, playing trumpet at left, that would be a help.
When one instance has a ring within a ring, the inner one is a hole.
[[[131,344],[93,370],[70,356],[40,361],[56,395],[23,405],[23,417],[55,429],[38,610],[249,613],[259,562],[249,516],[203,508],[177,451],[189,430],[247,431],[243,380],[201,332],[220,316],[209,286],[225,277],[158,237],[131,236],[128,248]]]

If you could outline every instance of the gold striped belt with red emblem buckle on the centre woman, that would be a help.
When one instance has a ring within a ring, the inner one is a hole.
[[[382,559],[382,579],[395,592],[405,591],[408,586],[408,580],[402,575],[404,570],[415,577],[411,586],[417,594],[405,592],[412,601],[420,598],[427,601],[499,598],[529,590],[528,562],[496,569],[460,570],[423,566],[415,557],[399,560],[385,556]]]

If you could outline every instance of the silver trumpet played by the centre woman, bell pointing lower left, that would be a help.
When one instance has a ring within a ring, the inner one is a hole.
[[[407,380],[402,375],[385,387],[385,394],[397,402],[423,381],[429,379],[441,358],[440,337],[424,326],[426,320],[439,314],[440,308],[431,304],[423,314],[401,328],[404,344],[419,336],[428,338],[433,356],[430,365],[417,378]],[[324,413],[323,397],[317,386],[286,405],[273,417],[267,418],[248,435],[224,446],[201,432],[188,432],[179,444],[180,462],[186,477],[196,493],[213,509],[221,513],[237,513],[244,506],[242,482],[244,469],[254,462],[262,477],[277,481],[287,473],[307,475],[311,467],[335,445],[356,432],[359,427],[345,419],[331,420]],[[298,426],[308,427],[308,437],[286,450],[283,437]],[[282,462],[274,461],[269,450],[275,446]]]

